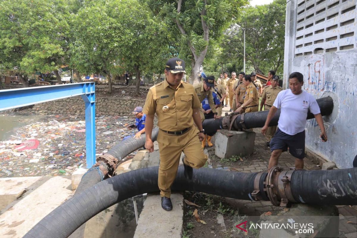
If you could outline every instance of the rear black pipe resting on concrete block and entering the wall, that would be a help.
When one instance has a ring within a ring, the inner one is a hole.
[[[333,99],[332,97],[323,97],[319,98],[316,100],[318,103],[318,106],[320,107],[321,115],[322,116],[327,116],[332,113],[333,110]],[[234,118],[234,122],[232,124],[232,130],[241,130],[244,128],[244,126],[249,129],[249,128],[257,128],[257,127],[263,127],[266,121],[266,118],[268,116],[269,111],[260,111],[260,112],[250,112],[250,113],[245,113],[243,115],[243,123],[241,123],[241,116],[242,115],[237,115],[236,118]],[[277,110],[275,113],[275,116],[272,118],[272,120],[269,123],[269,126],[277,126],[278,125],[278,120],[280,116],[280,109]],[[208,119],[203,122],[203,129],[205,129],[205,132],[208,134],[213,134],[216,133],[217,130],[220,129],[228,129],[228,125],[230,125],[231,121],[229,120],[230,116],[227,117],[221,117],[219,119]],[[314,115],[309,111],[307,113],[306,120],[314,118]],[[228,124],[228,125],[227,125]]]

